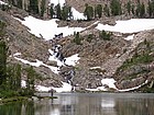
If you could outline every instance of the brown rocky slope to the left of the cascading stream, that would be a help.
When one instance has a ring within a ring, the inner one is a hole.
[[[19,11],[20,12],[16,12],[15,14],[18,15],[22,15],[21,13],[26,14],[25,11],[22,10]],[[14,58],[13,56],[14,54],[21,53],[21,56],[18,57],[22,59],[29,60],[31,62],[35,62],[36,59],[38,59],[47,64],[50,57],[48,48],[51,48],[52,46],[48,44],[48,42],[45,42],[44,39],[32,35],[28,31],[29,28],[26,26],[22,25],[21,22],[16,21],[12,15],[10,15],[10,12],[3,12],[0,10],[1,15],[0,21],[4,22],[7,25],[4,39],[9,46],[8,62],[20,64],[22,65],[23,68],[29,67],[29,65],[24,65]],[[40,68],[34,69],[38,74],[41,74],[41,79],[37,80],[36,83],[46,85],[52,84],[55,87],[61,85],[61,79],[56,77],[57,74],[53,73],[50,68],[42,66]],[[24,73],[22,78],[26,80]],[[44,79],[44,81],[41,81],[42,79]]]

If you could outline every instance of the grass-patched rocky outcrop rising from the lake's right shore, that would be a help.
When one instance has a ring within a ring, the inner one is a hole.
[[[119,89],[134,88],[145,81],[150,83],[148,89],[154,88],[154,31],[146,34],[145,39],[132,50],[132,57],[117,69],[114,79]]]

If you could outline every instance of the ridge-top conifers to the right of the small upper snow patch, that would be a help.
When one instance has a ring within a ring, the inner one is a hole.
[[[154,0],[148,0],[147,5],[138,0],[136,4],[128,1],[122,4],[120,0],[111,0],[108,4],[96,4],[95,7],[85,4],[84,15],[88,21],[96,18],[116,16],[121,14],[134,15],[136,18],[154,18]]]

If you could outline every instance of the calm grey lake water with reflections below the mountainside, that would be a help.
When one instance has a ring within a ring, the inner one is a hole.
[[[0,105],[0,115],[154,115],[154,93],[55,95],[58,99]]]

